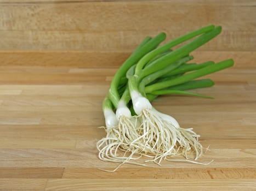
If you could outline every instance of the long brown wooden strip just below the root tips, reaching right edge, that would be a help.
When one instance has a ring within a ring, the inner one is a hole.
[[[129,168],[119,169],[109,173],[94,168],[66,168],[62,178],[83,179],[179,179],[179,180],[229,180],[253,179],[256,176],[255,168]],[[149,173],[150,171],[150,173]],[[122,174],[122,177],[119,175]]]

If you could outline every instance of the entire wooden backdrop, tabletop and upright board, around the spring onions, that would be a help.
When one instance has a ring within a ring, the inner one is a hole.
[[[208,166],[149,168],[97,158],[113,74],[146,35],[223,32],[192,55],[234,58],[193,92],[153,104],[194,127]],[[0,190],[256,190],[256,2],[0,0]]]

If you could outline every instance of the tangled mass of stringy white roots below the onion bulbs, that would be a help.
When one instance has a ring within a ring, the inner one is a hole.
[[[200,135],[192,128],[175,127],[168,119],[164,119],[164,115],[157,115],[151,109],[143,110],[136,117],[121,116],[118,126],[104,129],[106,137],[96,144],[99,159],[121,163],[111,172],[125,163],[142,166],[148,162],[161,165],[162,160],[203,165],[211,163],[194,161],[203,154],[203,147],[198,141]],[[191,154],[194,154],[194,160],[189,160]],[[142,156],[149,160],[145,160],[145,163],[134,162]],[[175,156],[185,159],[173,159]]]

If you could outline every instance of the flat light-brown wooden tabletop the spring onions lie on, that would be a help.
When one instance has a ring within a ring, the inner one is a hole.
[[[249,58],[248,58],[249,59]],[[1,67],[0,190],[255,190],[255,69],[212,74],[215,97],[162,97],[153,104],[194,127],[208,166],[164,162],[142,168],[101,162],[101,100],[113,69]],[[77,76],[74,76],[77,75]],[[8,80],[7,80],[8,79]],[[93,79],[93,80],[92,80]]]

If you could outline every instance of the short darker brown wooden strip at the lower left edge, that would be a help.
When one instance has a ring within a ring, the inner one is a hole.
[[[0,178],[62,178],[64,168],[1,168]],[[1,180],[1,179],[0,179]],[[1,189],[1,186],[0,186]]]

